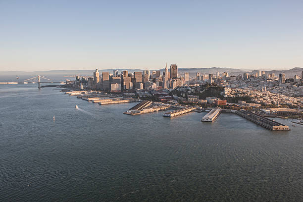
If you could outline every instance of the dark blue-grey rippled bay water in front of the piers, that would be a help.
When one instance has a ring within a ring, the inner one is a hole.
[[[136,103],[52,89],[0,86],[0,201],[302,201],[303,126],[290,120],[128,116]]]

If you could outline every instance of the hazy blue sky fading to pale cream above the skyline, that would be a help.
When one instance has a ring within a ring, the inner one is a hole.
[[[0,71],[303,67],[302,0],[0,0]]]

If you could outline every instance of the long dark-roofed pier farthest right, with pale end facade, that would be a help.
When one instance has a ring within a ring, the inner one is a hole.
[[[282,123],[278,123],[277,121],[271,120],[269,118],[255,114],[247,110],[238,110],[236,111],[236,113],[269,130],[290,130],[289,126],[286,126]]]

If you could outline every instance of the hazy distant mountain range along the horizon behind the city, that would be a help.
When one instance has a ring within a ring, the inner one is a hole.
[[[169,68],[168,68],[169,69]],[[118,69],[119,73],[123,70],[127,70],[130,73],[135,71],[143,71],[143,69]],[[66,76],[75,76],[75,75],[82,75],[82,76],[93,76],[93,72],[95,70],[50,70],[50,71],[0,71],[0,82],[8,82],[8,81],[23,81],[25,79],[42,75],[50,78],[54,81],[64,81],[65,79],[70,79],[70,77]],[[165,71],[165,69],[157,69],[157,70],[150,70],[150,71]],[[259,70],[243,70],[243,69],[234,69],[234,68],[227,68],[227,67],[211,67],[211,68],[178,68],[178,73],[183,74],[185,72],[190,73],[190,76],[196,76],[197,72],[201,74],[216,74],[220,72],[227,72],[229,75],[237,76],[239,74],[243,74],[245,72],[253,73]],[[303,68],[295,67],[289,70],[271,70],[265,71],[266,74],[274,73],[275,75],[279,75],[279,73],[284,72],[286,78],[293,77],[294,75],[302,74]],[[99,72],[109,72],[110,74],[113,73],[113,69],[101,69]],[[64,77],[65,76],[65,77]],[[19,79],[16,79],[19,77]]]

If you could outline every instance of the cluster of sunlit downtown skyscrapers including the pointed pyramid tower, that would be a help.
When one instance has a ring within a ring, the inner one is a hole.
[[[76,78],[75,87],[83,87],[80,77]],[[178,77],[178,66],[176,64],[170,65],[168,71],[167,64],[165,71],[135,71],[129,72],[123,70],[120,73],[118,70],[113,70],[112,74],[109,72],[102,72],[96,69],[94,76],[87,78],[85,82],[86,88],[101,90],[101,91],[127,91],[127,90],[143,90],[143,89],[174,89],[178,86],[183,86],[189,83],[189,73],[184,73],[184,76]]]

